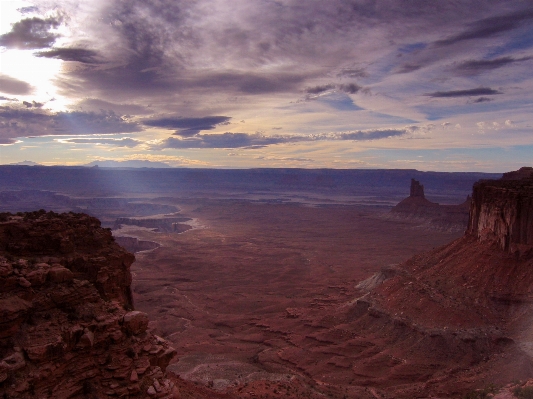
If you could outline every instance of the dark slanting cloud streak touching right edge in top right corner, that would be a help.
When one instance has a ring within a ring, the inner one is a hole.
[[[465,31],[447,39],[435,42],[437,46],[448,46],[472,39],[485,39],[500,33],[517,29],[533,21],[533,9],[525,9],[505,15],[498,15],[479,20],[470,25]]]

